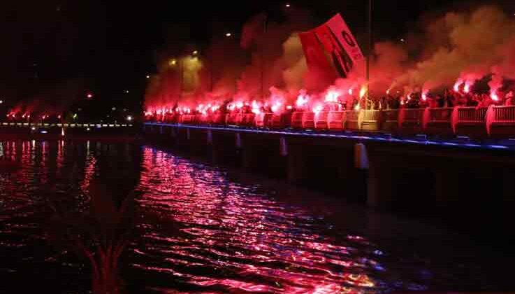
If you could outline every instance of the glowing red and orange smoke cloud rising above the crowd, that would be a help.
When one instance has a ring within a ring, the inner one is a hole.
[[[329,81],[307,71],[298,33],[316,25],[300,10],[291,10],[282,23],[256,15],[243,27],[240,46],[214,43],[208,50],[210,59],[220,64],[215,66],[219,70],[213,75],[212,92],[205,82],[208,61],[203,61],[200,90],[187,99],[181,98],[177,77],[166,69],[147,91],[147,109],[172,108],[175,104],[194,108],[199,103],[228,100],[249,104],[258,100],[275,109],[300,101],[313,108],[335,93],[338,100],[347,102],[365,96],[365,62],[355,64],[347,78]],[[494,91],[502,88],[505,79],[515,78],[515,22],[497,6],[423,18],[421,34],[410,33],[405,40],[375,43],[370,57],[371,97],[381,97],[387,91],[423,92],[427,97],[429,91],[440,92],[455,84],[463,85],[467,92],[472,91],[476,80],[491,74]]]

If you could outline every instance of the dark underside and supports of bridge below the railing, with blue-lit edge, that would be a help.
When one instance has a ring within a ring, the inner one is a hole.
[[[145,123],[143,131],[214,164],[322,189],[371,207],[479,212],[493,204],[515,207],[513,139],[162,122]],[[488,193],[485,198],[470,196],[478,191]]]

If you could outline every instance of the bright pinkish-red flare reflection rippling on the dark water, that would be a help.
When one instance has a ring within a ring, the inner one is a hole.
[[[362,293],[381,287],[364,237],[326,237],[328,225],[240,186],[222,172],[168,153],[143,149],[141,207],[180,225],[143,223],[134,266],[147,274],[178,276],[213,293]],[[166,227],[166,226],[165,226]],[[166,262],[156,266],[148,258]],[[138,262],[138,259],[142,260]],[[363,259],[368,262],[363,262]],[[223,288],[223,291],[213,289]]]

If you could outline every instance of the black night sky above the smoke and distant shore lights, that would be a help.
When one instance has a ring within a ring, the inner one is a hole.
[[[7,1],[6,1],[7,2]],[[366,27],[365,0],[296,0],[319,22],[340,12],[356,34]],[[491,2],[494,1],[481,1]],[[514,6],[515,1],[495,1]],[[80,80],[103,99],[138,100],[155,53],[185,43],[205,48],[212,35],[238,34],[252,15],[280,19],[285,1],[8,1],[0,9],[0,97],[27,99]],[[374,0],[375,38],[402,36],[419,17],[470,1]],[[507,8],[512,9],[513,7]],[[515,9],[514,9],[515,11]],[[168,46],[168,47],[167,47]],[[131,94],[122,95],[124,90]]]

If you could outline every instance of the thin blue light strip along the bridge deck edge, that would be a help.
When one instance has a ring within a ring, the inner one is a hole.
[[[498,141],[495,144],[484,144],[481,142],[467,142],[467,143],[458,143],[456,141],[436,141],[436,140],[415,140],[414,138],[410,139],[402,139],[402,138],[394,138],[391,135],[385,134],[367,134],[367,135],[359,135],[354,134],[352,132],[345,131],[342,134],[339,133],[321,133],[314,131],[305,131],[305,130],[258,130],[258,129],[249,129],[242,127],[210,127],[210,126],[199,126],[199,125],[181,125],[181,124],[169,124],[169,123],[145,123],[145,125],[150,126],[164,126],[164,127],[182,127],[189,129],[198,129],[198,130],[216,130],[216,131],[232,131],[232,132],[247,132],[247,133],[255,133],[255,134],[280,134],[287,136],[297,136],[297,137],[314,137],[314,138],[337,138],[337,139],[353,139],[358,141],[381,141],[381,142],[391,142],[391,143],[400,143],[400,144],[417,144],[417,145],[430,145],[430,146],[447,146],[447,147],[458,147],[458,148],[467,148],[467,149],[487,149],[487,150],[507,150],[507,151],[515,151],[515,142],[513,145],[502,145]]]

